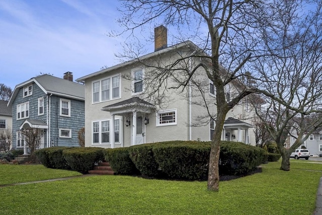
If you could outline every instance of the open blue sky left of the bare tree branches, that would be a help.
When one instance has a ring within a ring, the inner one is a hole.
[[[0,0],[0,83],[12,89],[35,76],[74,80],[120,62],[116,0]],[[152,51],[152,50],[150,50]]]

